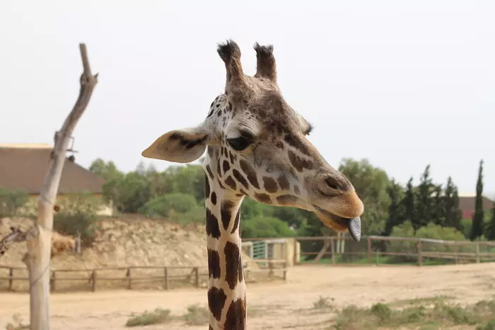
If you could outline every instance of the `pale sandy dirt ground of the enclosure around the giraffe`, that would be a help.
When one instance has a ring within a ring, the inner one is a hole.
[[[334,298],[334,304],[369,306],[418,297],[448,295],[471,303],[495,297],[495,263],[459,266],[296,266],[288,279],[248,284],[248,329],[325,329],[332,315],[312,310],[313,302]],[[157,307],[185,314],[187,306],[206,306],[206,290],[107,291],[53,294],[52,329],[126,329],[133,312]],[[28,322],[29,297],[0,293],[0,329],[21,314]],[[180,322],[134,329],[204,330]],[[460,328],[455,328],[460,329]]]

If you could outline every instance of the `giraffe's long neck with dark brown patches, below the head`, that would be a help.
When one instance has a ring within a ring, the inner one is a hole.
[[[214,179],[209,165],[205,169],[209,329],[245,330],[246,296],[240,244],[243,196],[228,193]]]

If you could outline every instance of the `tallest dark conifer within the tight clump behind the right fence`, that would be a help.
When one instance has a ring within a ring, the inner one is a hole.
[[[432,220],[434,214],[433,207],[433,183],[430,178],[430,166],[426,166],[423,175],[421,175],[419,186],[417,187],[416,213],[412,218],[412,227],[414,232],[419,228],[426,226]]]

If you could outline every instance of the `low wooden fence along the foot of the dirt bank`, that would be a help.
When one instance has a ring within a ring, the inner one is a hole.
[[[248,282],[258,280],[286,280],[284,260],[256,260],[246,266],[244,275]],[[280,274],[281,273],[281,274]],[[127,266],[91,269],[50,270],[50,290],[95,292],[100,289],[170,290],[192,285],[206,288],[207,266]],[[27,291],[28,270],[25,267],[0,266],[0,290]]]

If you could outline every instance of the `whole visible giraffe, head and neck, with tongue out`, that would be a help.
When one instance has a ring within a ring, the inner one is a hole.
[[[240,205],[261,203],[315,212],[337,232],[361,238],[363,203],[307,135],[312,126],[285,101],[276,81],[273,45],[254,45],[257,70],[243,73],[233,40],[218,45],[226,67],[225,91],[203,123],[158,137],[141,155],[189,163],[205,153],[206,249],[210,330],[246,329],[241,262]]]

